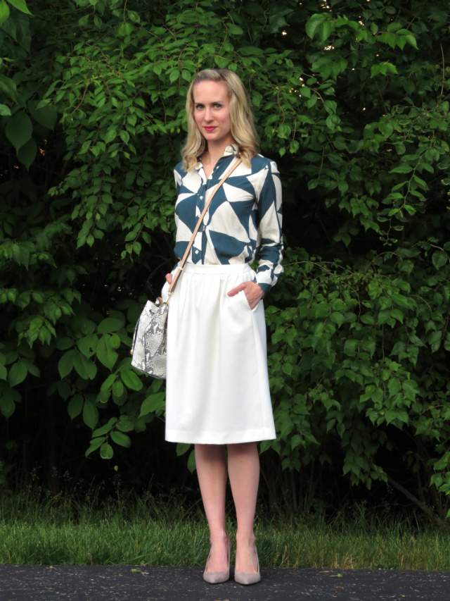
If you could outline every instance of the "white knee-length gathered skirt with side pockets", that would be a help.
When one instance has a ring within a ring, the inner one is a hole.
[[[186,264],[169,301],[166,440],[276,438],[264,306],[250,309],[244,292],[227,295],[248,280],[255,280],[248,264]]]

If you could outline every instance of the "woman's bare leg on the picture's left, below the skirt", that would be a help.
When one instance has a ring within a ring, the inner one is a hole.
[[[226,459],[221,445],[195,445],[195,464],[203,507],[210,526],[211,554],[206,570],[228,569],[225,527]]]

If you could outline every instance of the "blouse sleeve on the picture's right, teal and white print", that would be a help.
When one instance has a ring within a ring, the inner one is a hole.
[[[281,265],[281,259],[283,259],[281,181],[274,161],[270,161],[262,171],[258,196],[258,216],[257,254],[259,265],[256,280],[266,295],[283,273]]]

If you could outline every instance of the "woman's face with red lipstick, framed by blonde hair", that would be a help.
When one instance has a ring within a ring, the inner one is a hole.
[[[224,82],[203,81],[194,86],[194,118],[208,144],[228,146],[231,135],[230,99]]]

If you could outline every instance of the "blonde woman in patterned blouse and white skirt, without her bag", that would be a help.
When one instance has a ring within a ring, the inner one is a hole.
[[[205,581],[229,578],[228,476],[238,522],[235,580],[252,584],[260,579],[253,533],[256,441],[276,438],[262,297],[283,271],[281,184],[276,164],[257,154],[248,95],[235,73],[198,73],[186,111],[188,137],[175,168],[176,256],[183,256],[224,173],[237,157],[242,163],[212,199],[170,299],[166,439],[195,444],[211,539]],[[166,275],[166,296],[174,273]]]

